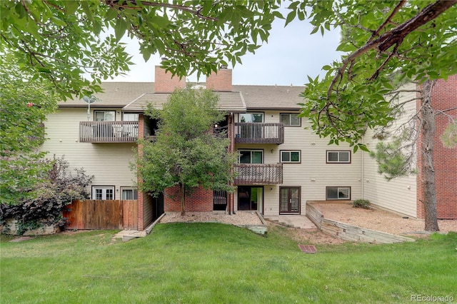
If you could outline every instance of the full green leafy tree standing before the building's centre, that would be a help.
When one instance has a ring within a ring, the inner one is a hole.
[[[233,191],[233,163],[226,133],[214,133],[224,119],[217,109],[218,96],[209,90],[178,89],[162,110],[149,106],[146,115],[159,121],[156,138],[141,141],[137,163],[141,191],[157,196],[177,186],[181,214],[186,196],[196,188]]]

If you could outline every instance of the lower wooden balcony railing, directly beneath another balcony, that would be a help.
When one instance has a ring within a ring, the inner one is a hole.
[[[282,163],[237,163],[235,185],[280,185],[283,183]]]

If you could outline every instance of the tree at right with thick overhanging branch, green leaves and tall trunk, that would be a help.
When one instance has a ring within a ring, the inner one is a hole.
[[[396,118],[391,96],[401,85],[421,85],[425,229],[438,230],[433,176],[435,113],[433,80],[457,73],[457,1],[294,1],[286,21],[309,16],[314,32],[342,26],[341,61],[323,66],[323,79],[311,78],[303,92],[302,115],[311,118],[319,136],[367,150],[361,138],[367,128],[386,128]],[[306,11],[309,7],[311,11]]]

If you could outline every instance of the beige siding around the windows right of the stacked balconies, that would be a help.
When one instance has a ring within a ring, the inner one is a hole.
[[[266,123],[280,122],[280,113],[287,111],[263,111]],[[281,145],[237,144],[236,149],[263,149],[264,163],[279,163],[281,150],[300,150],[301,163],[283,164],[283,184],[264,186],[264,208],[266,216],[279,214],[279,187],[301,188],[301,214],[305,214],[306,201],[325,201],[326,186],[349,186],[351,198],[361,198],[361,152],[352,153],[351,163],[326,163],[326,150],[351,150],[346,145],[328,146],[328,139],[319,138],[301,127],[286,126],[284,143]],[[235,208],[237,196],[235,193]]]

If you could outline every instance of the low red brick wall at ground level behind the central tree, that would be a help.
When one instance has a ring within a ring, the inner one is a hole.
[[[181,191],[177,186],[166,189],[164,194],[164,212],[170,211],[181,211]],[[190,196],[186,196],[186,211],[213,211],[213,191],[199,187]]]

